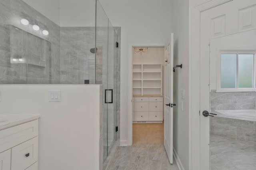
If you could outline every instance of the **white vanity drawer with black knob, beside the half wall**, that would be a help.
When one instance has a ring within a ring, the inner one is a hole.
[[[38,160],[38,137],[12,148],[11,170],[25,170]]]

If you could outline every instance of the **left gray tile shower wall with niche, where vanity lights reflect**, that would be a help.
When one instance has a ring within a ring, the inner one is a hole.
[[[0,84],[59,84],[60,27],[22,0],[1,0],[0,11]],[[23,17],[49,36],[20,24]]]

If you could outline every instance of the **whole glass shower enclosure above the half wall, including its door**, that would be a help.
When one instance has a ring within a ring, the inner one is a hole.
[[[102,84],[105,160],[117,138],[118,36],[98,0],[42,3],[0,1],[0,84]]]

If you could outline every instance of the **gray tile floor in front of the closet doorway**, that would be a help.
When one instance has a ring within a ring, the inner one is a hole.
[[[173,159],[174,160],[174,159]],[[163,145],[120,146],[110,170],[179,170],[170,164]]]

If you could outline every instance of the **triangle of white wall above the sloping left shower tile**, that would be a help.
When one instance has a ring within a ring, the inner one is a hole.
[[[23,0],[60,26],[60,0]]]

